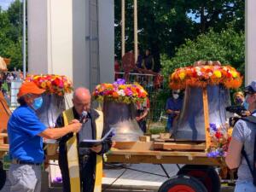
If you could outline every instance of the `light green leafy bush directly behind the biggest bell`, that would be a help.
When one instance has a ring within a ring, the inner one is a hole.
[[[195,40],[187,39],[181,45],[172,59],[162,56],[162,72],[167,77],[177,67],[193,65],[195,61],[220,61],[236,67],[244,75],[245,65],[244,32],[236,32],[234,26],[229,26],[222,32],[212,29],[199,35]]]

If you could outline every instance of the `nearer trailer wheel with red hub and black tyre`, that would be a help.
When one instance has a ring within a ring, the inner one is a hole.
[[[195,177],[179,175],[163,183],[158,192],[207,192],[207,189]]]

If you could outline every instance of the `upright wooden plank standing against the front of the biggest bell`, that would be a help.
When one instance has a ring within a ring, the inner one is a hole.
[[[204,108],[204,119],[205,119],[205,133],[206,133],[206,150],[211,145],[210,127],[209,127],[209,108],[208,108],[208,96],[207,87],[203,88],[203,108]]]

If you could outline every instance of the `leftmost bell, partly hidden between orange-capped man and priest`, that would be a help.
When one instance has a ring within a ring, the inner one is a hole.
[[[47,127],[55,127],[55,121],[65,110],[64,96],[43,94],[43,105],[38,109],[38,118]]]

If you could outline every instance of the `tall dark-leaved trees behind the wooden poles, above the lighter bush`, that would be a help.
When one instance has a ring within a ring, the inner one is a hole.
[[[125,0],[126,50],[133,49],[133,0]],[[121,1],[115,0],[115,53],[120,55]],[[140,49],[151,48],[154,56],[175,55],[185,39],[226,29],[234,20],[234,30],[244,31],[242,0],[140,0],[138,7],[138,41]],[[160,63],[160,62],[159,62]]]

